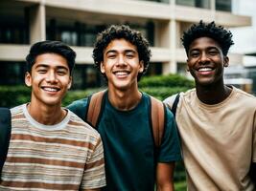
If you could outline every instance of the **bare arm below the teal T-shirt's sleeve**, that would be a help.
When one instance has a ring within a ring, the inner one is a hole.
[[[174,191],[175,162],[157,163],[156,188],[157,191]]]

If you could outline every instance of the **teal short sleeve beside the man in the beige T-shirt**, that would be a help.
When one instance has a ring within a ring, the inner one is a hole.
[[[166,126],[159,150],[158,162],[181,160],[180,141],[175,117],[170,110],[166,111]]]

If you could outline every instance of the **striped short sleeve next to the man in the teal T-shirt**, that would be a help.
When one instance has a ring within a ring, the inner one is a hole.
[[[102,139],[99,137],[90,158],[86,161],[81,181],[81,189],[105,186],[105,159]]]

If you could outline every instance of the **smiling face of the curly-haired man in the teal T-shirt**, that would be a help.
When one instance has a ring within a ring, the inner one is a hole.
[[[127,40],[114,39],[105,48],[101,72],[106,75],[108,88],[137,88],[137,76],[143,69],[136,46]]]

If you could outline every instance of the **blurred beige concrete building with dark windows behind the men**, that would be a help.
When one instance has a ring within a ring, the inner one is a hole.
[[[0,85],[23,83],[25,56],[40,40],[61,40],[77,52],[74,88],[99,87],[103,79],[93,67],[98,32],[112,24],[128,24],[151,44],[148,74],[185,74],[182,32],[203,20],[227,28],[251,25],[249,16],[232,13],[232,0],[1,0]],[[231,64],[243,55],[230,53]]]

